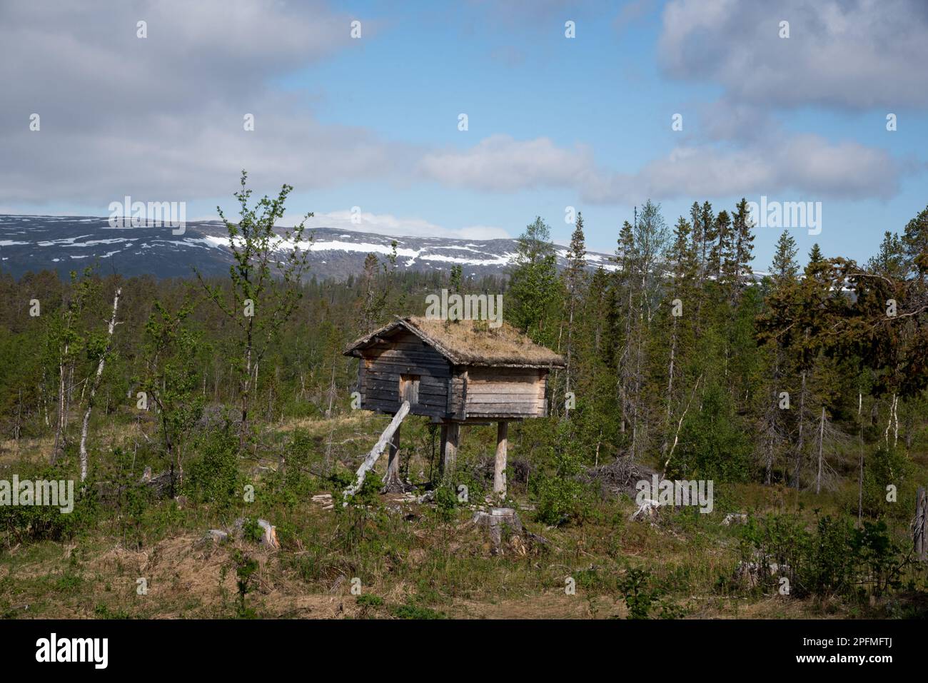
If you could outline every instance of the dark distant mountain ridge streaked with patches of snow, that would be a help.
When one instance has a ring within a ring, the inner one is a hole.
[[[465,276],[504,275],[516,254],[515,239],[394,238],[325,227],[310,232],[310,277],[319,279],[360,273],[367,254],[385,259],[394,239],[399,270],[448,271],[459,264]],[[0,272],[19,277],[48,269],[68,277],[96,263],[101,274],[126,277],[189,277],[194,266],[206,276],[228,273],[232,257],[222,223],[187,222],[180,233],[169,226],[113,228],[105,217],[0,214]],[[563,267],[567,249],[557,246],[556,252]],[[586,260],[594,268],[616,267],[608,254],[590,252]]]

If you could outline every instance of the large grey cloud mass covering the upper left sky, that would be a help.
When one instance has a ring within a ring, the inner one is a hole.
[[[148,37],[136,37],[136,21]],[[418,155],[318,122],[274,79],[357,44],[323,3],[0,4],[0,201],[106,206],[393,178]],[[365,36],[377,24],[365,21]],[[29,130],[29,114],[41,130]],[[244,116],[254,115],[254,131]],[[19,122],[19,124],[17,124]]]

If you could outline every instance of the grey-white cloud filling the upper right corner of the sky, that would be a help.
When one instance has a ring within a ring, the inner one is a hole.
[[[673,0],[658,49],[671,76],[741,103],[896,109],[928,106],[926,34],[924,0]]]

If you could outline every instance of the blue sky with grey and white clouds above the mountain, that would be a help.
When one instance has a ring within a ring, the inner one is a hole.
[[[566,242],[574,206],[612,251],[649,198],[673,225],[693,200],[766,195],[822,202],[821,234],[792,231],[803,253],[864,260],[928,204],[915,0],[211,5],[0,10],[0,210],[106,215],[130,194],[212,216],[245,167],[258,192],[293,185],[315,225],[515,237],[537,214]],[[24,61],[31,33],[47,54]],[[756,230],[756,268],[779,232]]]

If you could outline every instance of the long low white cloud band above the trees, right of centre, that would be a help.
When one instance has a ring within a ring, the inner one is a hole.
[[[426,177],[483,191],[567,187],[592,203],[651,198],[728,197],[783,190],[829,198],[886,198],[899,165],[879,148],[831,143],[818,135],[783,136],[745,148],[678,147],[633,174],[599,167],[588,148],[558,148],[548,138],[488,137],[463,151],[426,155]]]

